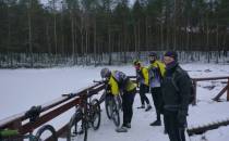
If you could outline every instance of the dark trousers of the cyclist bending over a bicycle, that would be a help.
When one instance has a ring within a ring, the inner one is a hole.
[[[136,90],[124,92],[122,95],[122,110],[123,110],[123,125],[131,124],[133,116],[133,102]]]

